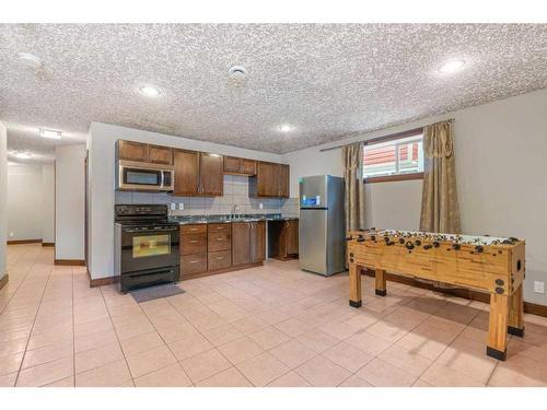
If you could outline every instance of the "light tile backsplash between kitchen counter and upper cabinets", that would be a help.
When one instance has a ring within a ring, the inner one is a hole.
[[[299,215],[296,198],[249,198],[249,178],[240,175],[224,175],[224,196],[214,198],[173,197],[165,192],[116,191],[116,203],[176,203],[175,215],[229,214],[237,206],[236,213],[281,213],[283,216]],[[184,210],[178,210],[184,203]],[[263,209],[260,209],[260,203]],[[171,209],[171,208],[170,208]]]

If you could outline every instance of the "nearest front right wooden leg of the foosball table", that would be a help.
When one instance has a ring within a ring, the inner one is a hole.
[[[490,294],[490,320],[488,326],[488,345],[486,354],[505,360],[508,348],[509,296]]]

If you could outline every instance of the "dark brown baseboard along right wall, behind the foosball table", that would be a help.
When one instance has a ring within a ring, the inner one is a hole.
[[[366,274],[368,277],[374,278],[374,271],[371,269],[361,269],[361,273]],[[427,289],[433,292],[441,292],[445,294],[450,294],[452,296],[468,298],[470,301],[477,301],[482,303],[490,303],[490,294],[485,292],[475,291],[472,289],[443,289],[437,288],[432,283],[427,283],[422,281],[418,281],[412,278],[403,277],[399,274],[386,273],[386,280],[403,284],[408,284],[410,286]],[[532,315],[544,316],[547,317],[547,306],[538,305],[532,302],[524,302],[524,312],[529,313]]]

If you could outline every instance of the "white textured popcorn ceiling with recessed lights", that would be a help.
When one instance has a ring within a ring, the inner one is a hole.
[[[440,74],[452,58],[466,69]],[[10,148],[50,154],[37,127],[73,143],[102,121],[284,153],[546,87],[547,25],[0,25],[0,68]]]

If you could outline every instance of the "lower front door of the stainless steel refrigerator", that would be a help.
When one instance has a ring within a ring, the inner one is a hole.
[[[301,209],[299,226],[300,267],[327,274],[327,210]]]

